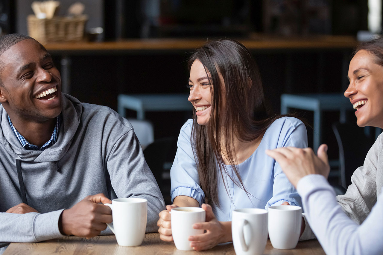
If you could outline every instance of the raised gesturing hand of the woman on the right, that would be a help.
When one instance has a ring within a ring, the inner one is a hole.
[[[311,148],[299,149],[295,147],[266,150],[266,154],[279,163],[282,171],[294,187],[306,175],[321,174],[327,178],[330,172],[327,145],[325,144],[319,146],[318,156],[315,156]]]

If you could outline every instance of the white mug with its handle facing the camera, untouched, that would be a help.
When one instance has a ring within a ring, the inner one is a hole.
[[[231,235],[237,255],[261,255],[267,243],[267,211],[245,208],[233,211]]]

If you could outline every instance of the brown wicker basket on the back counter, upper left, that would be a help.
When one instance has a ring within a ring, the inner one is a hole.
[[[76,17],[53,17],[52,19],[38,19],[34,15],[28,16],[28,34],[41,44],[48,42],[81,41],[84,36],[87,15]]]

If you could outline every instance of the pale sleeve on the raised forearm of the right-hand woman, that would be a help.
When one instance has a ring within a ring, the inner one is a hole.
[[[308,222],[327,254],[381,254],[383,198],[362,225],[354,223],[335,200],[334,189],[322,175],[298,182]]]

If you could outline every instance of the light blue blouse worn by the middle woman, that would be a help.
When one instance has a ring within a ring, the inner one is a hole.
[[[178,149],[170,169],[172,201],[179,195],[205,202],[205,193],[200,187],[196,162],[191,149],[192,119],[181,128]],[[268,208],[284,201],[301,206],[301,198],[283,174],[275,160],[265,154],[266,149],[294,146],[307,147],[307,132],[304,124],[293,117],[282,117],[267,128],[258,148],[241,164],[236,165],[249,195],[225,176],[226,188],[221,175],[217,175],[220,208],[213,208],[219,221],[231,221],[232,210],[239,208]],[[226,166],[233,174],[232,167]],[[233,174],[232,176],[235,176]]]

